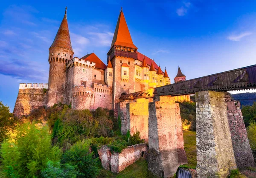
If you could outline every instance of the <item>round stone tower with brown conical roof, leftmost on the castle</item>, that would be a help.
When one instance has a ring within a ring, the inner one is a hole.
[[[59,102],[66,103],[66,63],[73,59],[73,49],[67,24],[67,7],[64,18],[58,29],[52,45],[49,48],[49,82],[47,92],[47,106]]]

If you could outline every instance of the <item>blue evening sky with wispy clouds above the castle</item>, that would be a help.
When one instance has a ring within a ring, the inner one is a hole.
[[[138,51],[174,83],[256,64],[255,0],[9,0],[0,6],[0,101],[12,111],[19,83],[48,83],[49,47],[67,6],[74,56],[107,61],[122,7]]]

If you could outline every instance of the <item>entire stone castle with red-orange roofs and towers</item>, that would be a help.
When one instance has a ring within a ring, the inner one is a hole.
[[[107,65],[96,54],[80,59],[73,57],[67,23],[67,8],[52,45],[49,48],[48,84],[21,83],[14,116],[28,115],[39,107],[62,103],[73,109],[98,107],[117,110],[123,94],[169,85],[170,79],[154,60],[137,51],[123,11],[120,11]],[[178,68],[175,82],[186,80]]]

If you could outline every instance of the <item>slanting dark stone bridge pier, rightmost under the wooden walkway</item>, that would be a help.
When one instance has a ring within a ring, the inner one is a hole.
[[[238,168],[253,167],[255,164],[240,109],[240,102],[232,100],[230,94],[227,93],[226,103],[236,165]]]

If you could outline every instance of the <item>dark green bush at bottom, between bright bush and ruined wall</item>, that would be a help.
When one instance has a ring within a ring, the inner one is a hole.
[[[96,177],[99,173],[98,159],[93,159],[93,153],[90,153],[90,140],[78,141],[69,150],[67,150],[62,158],[63,163],[73,164],[78,167],[80,178]]]

